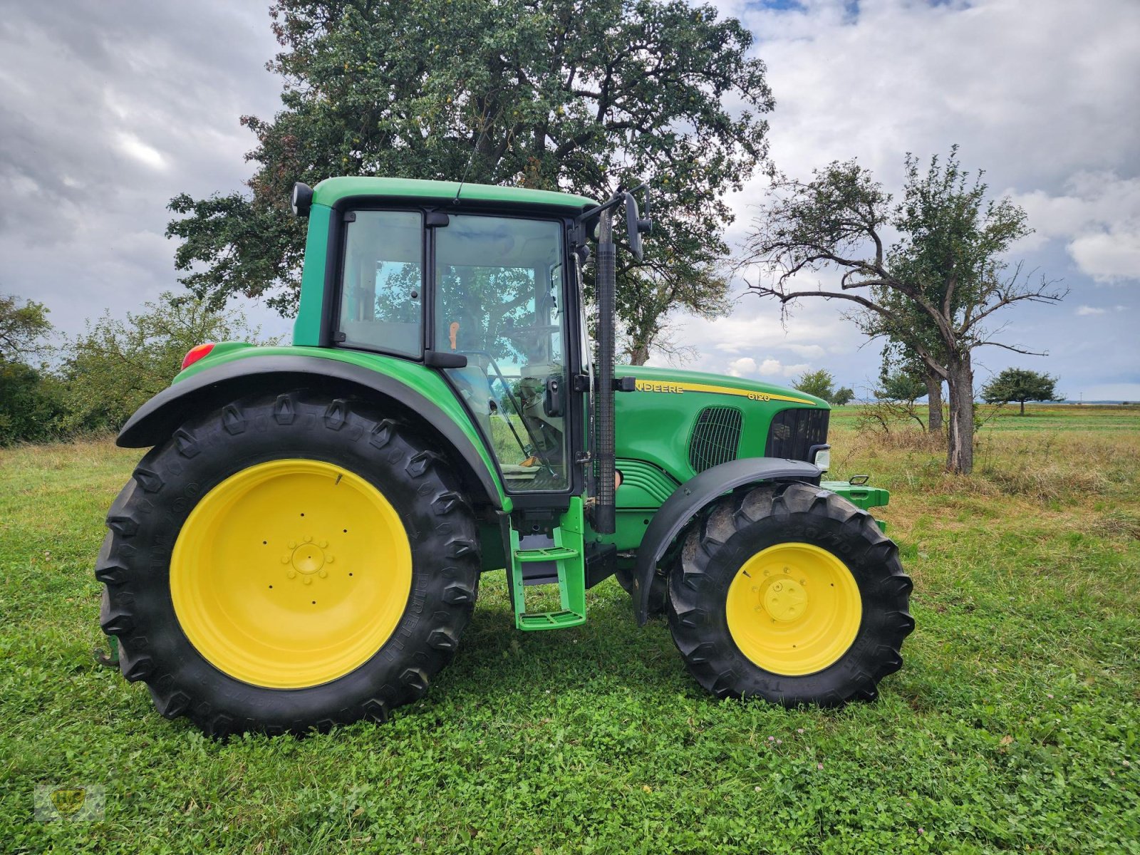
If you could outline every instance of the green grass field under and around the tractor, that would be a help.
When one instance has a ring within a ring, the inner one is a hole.
[[[0,451],[0,850],[1140,853],[1140,412],[1031,407],[978,472],[837,414],[833,475],[889,487],[918,628],[881,698],[717,702],[613,580],[512,629],[487,576],[459,654],[391,723],[204,739],[93,665],[108,442]],[[40,823],[35,784],[101,785]]]

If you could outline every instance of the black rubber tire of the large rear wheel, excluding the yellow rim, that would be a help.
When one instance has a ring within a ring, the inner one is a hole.
[[[184,523],[212,487],[255,464],[296,458],[342,467],[383,495],[408,536],[412,581],[396,629],[367,661],[319,685],[274,689],[223,673],[194,648],[173,606],[170,563]],[[119,640],[120,670],[147,684],[163,716],[188,716],[212,736],[384,722],[453,659],[474,609],[479,539],[458,479],[422,434],[350,398],[298,389],[187,421],[142,458],[107,527],[95,575],[105,585],[100,625]]]

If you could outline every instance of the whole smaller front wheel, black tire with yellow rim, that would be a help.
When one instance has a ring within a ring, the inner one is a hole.
[[[669,628],[718,697],[872,700],[902,667],[911,580],[869,513],[811,484],[712,505],[669,576]]]

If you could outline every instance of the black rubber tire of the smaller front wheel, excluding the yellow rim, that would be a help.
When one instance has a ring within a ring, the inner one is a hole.
[[[862,619],[834,662],[812,674],[765,670],[741,652],[728,627],[728,587],[762,549],[809,544],[838,557],[854,577]],[[903,640],[914,628],[912,589],[898,549],[874,519],[812,484],[760,486],[712,503],[684,542],[669,577],[668,621],[689,671],[718,698],[759,697],[796,707],[870,701],[902,665]]]

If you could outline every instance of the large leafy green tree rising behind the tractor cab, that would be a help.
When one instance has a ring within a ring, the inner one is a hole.
[[[654,238],[618,271],[630,358],[670,311],[726,310],[722,195],[766,162],[773,106],[736,19],[681,0],[278,0],[271,14],[283,109],[242,120],[258,138],[251,193],[171,201],[198,296],[295,308],[294,181],[466,177],[602,198],[649,180]]]

